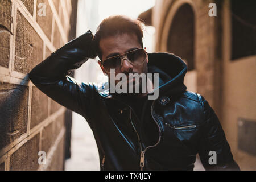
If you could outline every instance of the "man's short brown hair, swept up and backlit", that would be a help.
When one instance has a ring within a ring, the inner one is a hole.
[[[143,47],[143,20],[137,18],[132,19],[125,15],[110,16],[102,20],[94,35],[93,43],[98,57],[102,60],[102,52],[100,49],[100,40],[110,36],[121,35],[123,33],[135,34],[139,44]]]

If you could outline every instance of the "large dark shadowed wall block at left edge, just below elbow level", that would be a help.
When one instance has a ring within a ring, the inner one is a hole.
[[[0,82],[0,150],[27,132],[28,87]]]

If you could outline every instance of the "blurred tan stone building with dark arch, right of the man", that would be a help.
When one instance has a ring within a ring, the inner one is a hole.
[[[217,16],[209,16],[210,3]],[[144,14],[155,51],[187,62],[188,90],[216,111],[241,169],[255,170],[256,1],[163,0]]]

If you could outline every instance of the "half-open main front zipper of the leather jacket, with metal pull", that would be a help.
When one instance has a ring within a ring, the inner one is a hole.
[[[160,126],[159,126],[158,122],[156,121],[156,119],[155,119],[155,117],[154,117],[154,115],[153,115],[153,113],[154,113],[154,103],[155,103],[155,100],[152,102],[152,105],[151,105],[151,116],[152,116],[152,118],[154,119],[156,125],[158,126],[158,129],[159,129],[159,138],[158,138],[158,142],[156,142],[156,143],[155,143],[154,145],[152,145],[152,146],[146,147],[144,151],[142,150],[141,139],[139,138],[139,134],[138,134],[138,132],[136,131],[134,125],[133,125],[133,120],[131,119],[131,110],[130,110],[131,124],[133,125],[133,128],[134,128],[135,132],[137,133],[137,137],[138,137],[138,141],[139,141],[139,146],[141,147],[141,156],[140,156],[140,157],[141,157],[141,160],[140,160],[140,162],[139,162],[139,166],[141,167],[141,171],[143,171],[144,160],[145,160],[145,153],[146,153],[147,149],[148,149],[148,148],[152,148],[152,147],[156,147],[156,146],[159,144],[159,142],[160,142],[160,140],[161,140],[161,137],[162,137],[162,131],[161,131],[161,129],[160,129]]]

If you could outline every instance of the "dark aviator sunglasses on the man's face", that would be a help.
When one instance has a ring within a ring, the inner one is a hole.
[[[146,50],[143,48],[135,49],[121,55],[109,57],[104,61],[101,61],[101,65],[108,73],[110,73],[110,69],[115,69],[115,72],[117,72],[122,67],[123,60],[125,59],[133,65],[144,64],[146,61],[146,53]]]

